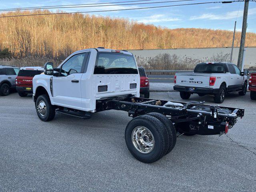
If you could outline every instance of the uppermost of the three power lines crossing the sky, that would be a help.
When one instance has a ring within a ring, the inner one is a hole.
[[[51,7],[65,7],[65,6],[83,6],[83,5],[99,5],[99,4],[115,4],[115,3],[129,3],[129,2],[143,2],[143,1],[154,1],[154,0],[134,0],[134,1],[122,1],[122,2],[108,2],[108,3],[90,3],[90,4],[71,4],[71,5],[54,5],[54,6],[39,6],[39,7],[23,7],[23,8],[9,8],[9,9],[0,9],[2,10],[23,10],[23,9],[41,9],[41,8],[51,8]],[[182,1],[182,0],[180,0]],[[194,0],[191,0],[194,1]]]

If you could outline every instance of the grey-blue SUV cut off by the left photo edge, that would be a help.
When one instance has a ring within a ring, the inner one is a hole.
[[[0,95],[7,96],[10,90],[16,87],[15,78],[19,68],[16,66],[0,65]]]

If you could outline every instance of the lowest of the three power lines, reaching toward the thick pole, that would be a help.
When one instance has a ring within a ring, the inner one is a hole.
[[[232,2],[241,2],[244,0],[233,0]],[[166,5],[166,6],[154,6],[154,7],[142,7],[142,8],[128,8],[128,9],[115,9],[115,10],[100,10],[100,11],[83,11],[83,12],[63,12],[63,13],[43,13],[43,14],[26,14],[26,15],[13,15],[13,16],[0,16],[0,18],[7,17],[22,17],[22,16],[39,16],[39,15],[57,15],[57,14],[75,14],[75,13],[95,13],[95,12],[111,12],[111,11],[125,11],[125,10],[141,10],[141,9],[152,9],[152,8],[163,8],[163,7],[174,7],[174,6],[186,6],[186,5],[200,5],[200,4],[213,4],[213,3],[225,3],[226,1],[219,2],[202,2],[202,3],[190,3],[190,4],[178,4],[178,5]]]

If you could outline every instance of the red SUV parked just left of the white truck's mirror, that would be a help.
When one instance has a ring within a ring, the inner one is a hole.
[[[24,66],[20,68],[16,82],[16,90],[21,97],[26,97],[28,94],[33,93],[32,79],[35,75],[44,72],[44,67]]]

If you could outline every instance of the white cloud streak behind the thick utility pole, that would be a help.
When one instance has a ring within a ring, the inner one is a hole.
[[[225,14],[212,14],[212,13],[205,13],[200,16],[191,16],[190,20],[198,20],[198,19],[208,19],[208,20],[226,20],[226,19],[234,19],[236,16],[242,17],[244,10],[231,11]],[[256,14],[256,8],[252,8],[248,10],[248,15]]]

